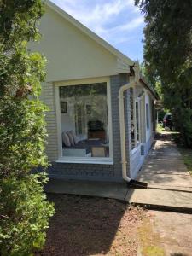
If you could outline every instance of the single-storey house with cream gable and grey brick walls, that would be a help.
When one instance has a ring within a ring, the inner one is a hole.
[[[46,2],[43,38],[32,50],[49,60],[49,176],[122,182],[135,178],[154,141],[154,91],[138,63]]]

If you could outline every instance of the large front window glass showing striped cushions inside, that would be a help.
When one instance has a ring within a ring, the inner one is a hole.
[[[107,91],[107,83],[59,87],[63,157],[109,157]]]

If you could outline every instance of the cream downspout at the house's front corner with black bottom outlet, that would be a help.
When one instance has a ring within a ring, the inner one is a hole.
[[[135,80],[131,83],[125,84],[120,87],[119,89],[119,127],[120,127],[120,148],[121,148],[121,164],[122,164],[122,177],[125,180],[128,185],[137,187],[139,189],[147,189],[148,184],[138,182],[136,180],[131,179],[131,177],[128,177],[126,174],[126,148],[125,148],[125,111],[124,111],[124,92],[125,90],[129,90],[130,88],[134,88],[138,81],[139,81],[139,75],[138,72],[135,76]]]

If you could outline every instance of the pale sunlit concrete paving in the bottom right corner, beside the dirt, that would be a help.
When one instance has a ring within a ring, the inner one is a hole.
[[[148,211],[149,222],[143,229],[146,241],[140,241],[139,251],[154,245],[161,248],[158,255],[191,256],[192,255],[192,215],[177,212]],[[146,229],[148,226],[148,229]],[[150,230],[150,232],[149,232]],[[154,239],[153,239],[154,238]],[[157,255],[156,253],[150,255]]]

